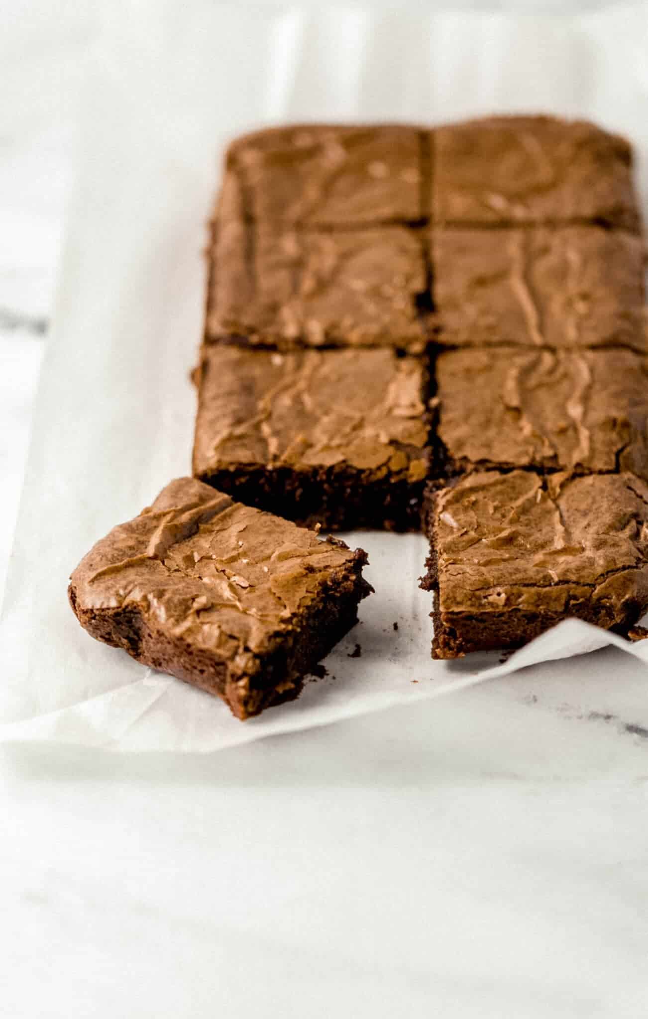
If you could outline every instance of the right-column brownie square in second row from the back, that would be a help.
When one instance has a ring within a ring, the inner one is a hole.
[[[432,232],[437,340],[646,351],[643,245],[597,226]]]

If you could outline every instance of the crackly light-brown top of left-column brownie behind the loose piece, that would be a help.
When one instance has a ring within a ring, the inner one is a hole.
[[[194,470],[352,468],[421,481],[426,370],[392,351],[205,347]]]

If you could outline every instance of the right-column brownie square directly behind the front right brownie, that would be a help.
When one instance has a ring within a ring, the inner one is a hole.
[[[464,469],[631,470],[648,480],[648,359],[627,350],[445,351],[438,434]]]

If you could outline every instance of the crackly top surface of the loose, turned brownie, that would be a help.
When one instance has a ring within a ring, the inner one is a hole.
[[[97,542],[71,586],[80,610],[132,607],[166,637],[242,674],[359,560],[364,553],[341,542],[180,478]]]

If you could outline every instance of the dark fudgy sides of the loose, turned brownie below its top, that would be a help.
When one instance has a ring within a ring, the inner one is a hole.
[[[328,541],[347,547],[333,538]],[[136,606],[88,609],[78,604],[73,583],[67,593],[76,619],[96,640],[217,695],[236,718],[246,720],[299,697],[305,677],[356,625],[359,603],[373,591],[362,576],[367,561],[367,553],[359,548],[343,567],[332,571],[318,599],[296,618],[296,625],[277,634],[267,654],[255,655],[256,669],[242,677],[231,676],[226,660],[152,627]]]

